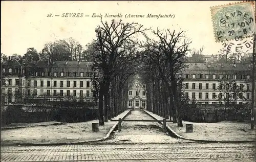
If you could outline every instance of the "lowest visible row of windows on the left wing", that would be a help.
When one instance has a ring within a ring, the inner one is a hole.
[[[40,89],[40,94],[37,94],[37,89],[28,89],[27,90],[27,95],[28,96],[37,96],[37,95],[46,95],[46,96],[51,96],[50,94],[50,89],[46,90],[46,94],[44,92],[44,89]],[[63,90],[59,90],[59,93],[57,94],[57,90],[53,90],[53,96],[77,96],[77,90],[73,90],[73,93],[71,94],[70,90],[66,90],[66,94],[64,94]],[[83,95],[83,90],[79,91],[79,96],[82,97]],[[90,97],[90,90],[86,90],[86,97]]]

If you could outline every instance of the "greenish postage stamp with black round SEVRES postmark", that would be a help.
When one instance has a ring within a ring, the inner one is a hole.
[[[211,7],[216,42],[241,40],[255,33],[254,2]]]

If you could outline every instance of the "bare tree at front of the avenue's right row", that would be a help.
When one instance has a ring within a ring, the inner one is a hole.
[[[153,31],[158,40],[147,38],[144,47],[151,58],[152,63],[156,65],[159,75],[168,89],[168,96],[173,98],[176,111],[178,126],[183,126],[179,113],[179,80],[180,73],[186,67],[186,54],[189,51],[188,45],[191,43],[187,40],[184,31]],[[159,87],[157,87],[159,88]]]

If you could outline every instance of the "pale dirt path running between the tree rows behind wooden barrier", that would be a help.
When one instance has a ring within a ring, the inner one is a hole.
[[[144,111],[133,110],[125,119],[154,120]],[[184,142],[163,132],[157,122],[122,122],[121,132],[115,131],[109,143],[176,143]]]

